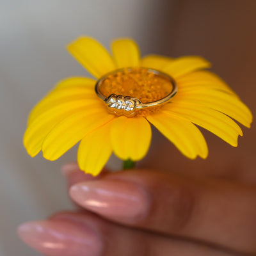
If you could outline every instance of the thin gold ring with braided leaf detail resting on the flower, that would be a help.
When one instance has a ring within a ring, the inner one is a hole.
[[[107,79],[109,75],[115,74],[116,72],[122,71],[122,70],[124,70],[124,68],[115,70],[114,72],[109,72],[108,74],[100,77],[100,79],[97,81],[95,85],[95,92],[97,93],[97,96],[100,97],[100,99],[102,99],[107,104],[109,111],[114,112],[118,115],[128,115],[128,116],[134,115],[136,110],[138,109],[152,108],[154,106],[159,106],[160,104],[164,104],[168,102],[177,93],[177,90],[178,90],[177,83],[171,76],[168,76],[167,74],[161,71],[147,68],[148,73],[150,72],[156,76],[164,77],[168,79],[168,81],[170,81],[170,83],[172,84],[172,91],[168,95],[166,95],[163,99],[143,103],[135,97],[116,95],[114,93],[112,93],[108,97],[103,95],[102,92],[100,92],[100,86],[105,81],[105,79]],[[125,68],[125,70],[129,71],[131,70],[131,68]]]

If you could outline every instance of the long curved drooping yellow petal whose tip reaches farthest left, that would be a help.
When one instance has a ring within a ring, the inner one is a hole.
[[[28,154],[34,157],[40,152],[45,137],[61,120],[76,112],[86,111],[88,107],[95,103],[97,104],[95,100],[73,100],[45,109],[43,113],[33,119],[24,134],[23,143],[28,150]]]

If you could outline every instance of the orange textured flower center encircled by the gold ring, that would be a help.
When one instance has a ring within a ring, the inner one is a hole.
[[[172,91],[168,77],[155,74],[148,68],[124,68],[109,74],[100,85],[100,91],[108,97],[111,94],[137,98],[141,103],[163,99]],[[159,106],[139,109],[136,115],[147,116],[159,109]]]

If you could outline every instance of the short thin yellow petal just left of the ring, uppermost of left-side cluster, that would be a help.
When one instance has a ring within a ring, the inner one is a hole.
[[[96,81],[95,79],[89,77],[68,77],[61,80],[56,86],[55,89],[63,89],[63,88],[74,88],[74,87],[95,87]]]

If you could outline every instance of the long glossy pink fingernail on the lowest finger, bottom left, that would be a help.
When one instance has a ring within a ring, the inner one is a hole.
[[[33,221],[20,225],[20,238],[47,255],[100,255],[102,244],[95,232],[67,221]]]

